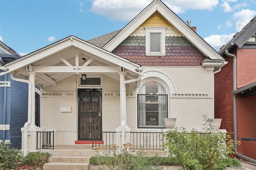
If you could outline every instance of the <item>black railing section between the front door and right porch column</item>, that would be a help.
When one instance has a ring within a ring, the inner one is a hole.
[[[116,132],[92,132],[92,148],[96,146],[108,146],[112,147],[116,143]],[[112,149],[112,148],[110,148]]]

